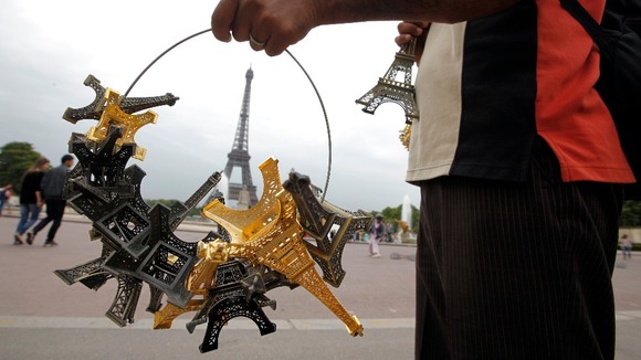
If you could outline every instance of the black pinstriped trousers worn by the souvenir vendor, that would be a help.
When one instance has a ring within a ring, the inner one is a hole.
[[[421,183],[416,359],[613,359],[621,205],[542,140],[527,182]]]

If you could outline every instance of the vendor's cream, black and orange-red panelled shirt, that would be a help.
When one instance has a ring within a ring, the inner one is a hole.
[[[582,1],[597,19],[605,1]],[[634,182],[612,118],[593,89],[599,53],[558,0],[433,23],[417,75],[407,180],[524,181],[537,136],[564,181]]]

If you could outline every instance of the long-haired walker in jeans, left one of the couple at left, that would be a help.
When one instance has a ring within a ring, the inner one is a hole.
[[[40,210],[44,204],[40,182],[44,177],[44,171],[49,169],[49,160],[40,158],[35,160],[31,168],[27,169],[22,176],[20,188],[20,220],[13,234],[13,245],[22,245],[22,235],[38,221]]]

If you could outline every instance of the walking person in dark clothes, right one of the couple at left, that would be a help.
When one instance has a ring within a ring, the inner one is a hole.
[[[42,178],[41,188],[44,193],[46,202],[46,218],[42,219],[38,225],[33,226],[33,231],[27,233],[27,243],[33,244],[35,235],[41,232],[50,222],[51,227],[46,233],[44,246],[56,246],[54,241],[55,233],[62,223],[64,209],[66,208],[66,200],[63,198],[64,183],[66,174],[73,167],[74,158],[71,155],[64,155],[61,159],[61,165],[48,171]]]

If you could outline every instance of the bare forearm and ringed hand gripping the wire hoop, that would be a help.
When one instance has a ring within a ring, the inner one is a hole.
[[[459,22],[506,9],[519,0],[220,0],[211,15],[221,41],[250,42],[277,55],[319,25],[376,20]]]

